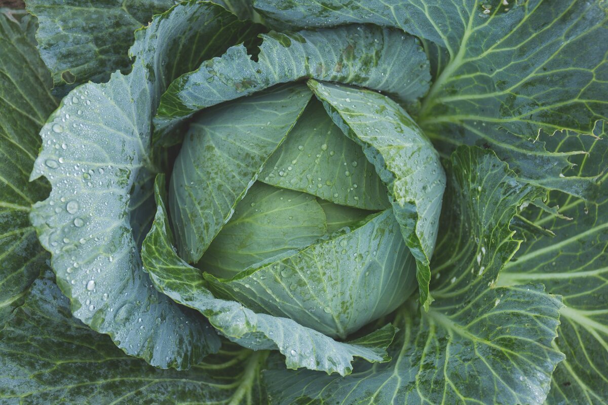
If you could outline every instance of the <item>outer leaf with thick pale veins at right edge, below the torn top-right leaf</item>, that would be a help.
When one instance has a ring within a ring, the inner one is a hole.
[[[559,205],[564,219],[542,209],[523,214],[554,237],[526,233],[527,241],[500,274],[500,285],[542,282],[547,291],[562,294],[555,347],[566,355],[553,374],[548,404],[608,403],[608,140],[606,125],[598,138],[567,134],[560,148],[591,151],[571,174],[601,175],[599,198],[585,202],[551,192],[547,203]]]

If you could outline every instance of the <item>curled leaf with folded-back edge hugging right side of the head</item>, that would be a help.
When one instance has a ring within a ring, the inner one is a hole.
[[[445,174],[439,156],[399,104],[370,90],[309,80],[334,123],[363,148],[389,190],[393,213],[416,258],[420,302],[428,308],[430,257],[435,248]]]

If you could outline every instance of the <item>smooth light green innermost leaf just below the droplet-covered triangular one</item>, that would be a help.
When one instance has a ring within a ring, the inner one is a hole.
[[[325,211],[303,192],[254,183],[196,267],[229,279],[327,233]]]

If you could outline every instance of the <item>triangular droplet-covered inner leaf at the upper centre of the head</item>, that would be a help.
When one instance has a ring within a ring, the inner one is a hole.
[[[259,179],[337,204],[364,209],[390,206],[387,189],[361,146],[344,136],[316,99],[268,159]]]

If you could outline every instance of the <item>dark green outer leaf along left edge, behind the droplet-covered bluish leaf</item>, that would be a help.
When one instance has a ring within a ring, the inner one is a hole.
[[[32,16],[0,9],[0,326],[48,259],[28,216],[49,185],[27,180],[40,148],[38,131],[57,101],[35,30]]]

